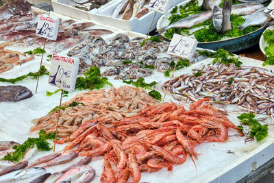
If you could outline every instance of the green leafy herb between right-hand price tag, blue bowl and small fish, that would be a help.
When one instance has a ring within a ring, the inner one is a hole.
[[[226,51],[225,49],[219,49],[215,52],[212,51],[198,51],[202,56],[208,56],[210,58],[215,58],[213,60],[213,63],[215,64],[216,62],[221,62],[227,66],[229,66],[229,64],[234,63],[235,66],[240,67],[240,65],[242,64],[242,62],[240,62],[238,60],[238,58],[234,58],[232,56],[234,56],[234,54],[229,53],[228,51]]]

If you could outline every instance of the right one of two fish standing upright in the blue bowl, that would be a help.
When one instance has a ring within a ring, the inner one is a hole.
[[[221,33],[225,33],[232,29],[232,23],[230,21],[230,14],[232,12],[232,0],[223,1],[223,22],[222,28],[220,30]]]

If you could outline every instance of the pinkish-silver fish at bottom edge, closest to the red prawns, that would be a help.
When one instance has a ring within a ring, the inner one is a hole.
[[[58,180],[55,181],[55,183],[60,183],[63,181],[73,181],[76,178],[81,177],[88,169],[92,169],[92,167],[89,167],[88,165],[79,165],[77,167],[74,167],[73,169],[70,169],[69,171],[66,171]]]

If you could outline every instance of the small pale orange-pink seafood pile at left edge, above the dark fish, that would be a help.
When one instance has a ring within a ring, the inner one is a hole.
[[[25,53],[0,47],[0,73],[9,71],[15,65],[21,65],[31,60],[34,60],[34,54],[27,57]]]

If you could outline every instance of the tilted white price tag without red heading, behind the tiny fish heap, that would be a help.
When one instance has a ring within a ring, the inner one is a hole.
[[[167,53],[190,60],[197,48],[197,45],[198,41],[194,38],[174,34],[171,40],[171,44],[169,44]]]

